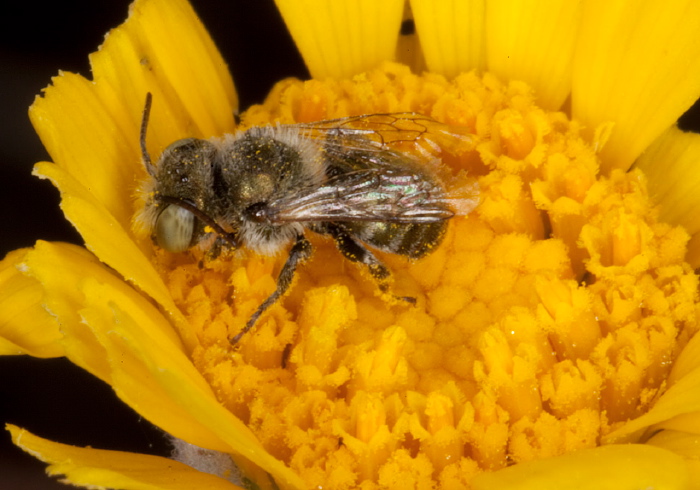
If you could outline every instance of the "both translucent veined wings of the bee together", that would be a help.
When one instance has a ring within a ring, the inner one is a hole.
[[[475,184],[445,193],[425,163],[443,150],[474,148],[473,135],[416,113],[371,114],[297,124],[322,142],[329,179],[268,202],[254,219],[270,223],[388,221],[432,223],[466,215],[478,203]]]

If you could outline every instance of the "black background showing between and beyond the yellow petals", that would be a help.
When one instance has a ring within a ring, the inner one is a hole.
[[[275,81],[308,78],[273,0],[191,0],[233,73],[240,107],[263,100]],[[121,24],[130,1],[12,2],[0,20],[0,257],[37,239],[82,243],[58,207],[58,191],[31,176],[49,159],[27,108],[58,70],[90,77],[87,56]],[[683,119],[699,128],[700,111]],[[106,386],[63,359],[0,357],[0,424],[64,443],[168,455],[158,429]],[[45,465],[0,430],[0,488],[65,489]]]

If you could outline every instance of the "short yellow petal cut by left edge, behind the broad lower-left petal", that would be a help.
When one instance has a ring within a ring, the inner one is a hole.
[[[44,288],[17,269],[26,253],[15,250],[0,262],[0,355],[60,357],[63,335],[42,306]]]

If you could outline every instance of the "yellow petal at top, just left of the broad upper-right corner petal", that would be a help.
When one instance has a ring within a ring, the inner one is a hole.
[[[486,2],[488,70],[527,82],[540,107],[559,109],[571,91],[580,18],[581,4],[571,0]]]

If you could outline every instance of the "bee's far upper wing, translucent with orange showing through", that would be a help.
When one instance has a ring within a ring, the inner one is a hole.
[[[331,151],[409,151],[435,158],[443,150],[459,155],[472,150],[474,135],[466,128],[438,122],[415,112],[369,114],[296,125],[306,137],[324,140]]]

